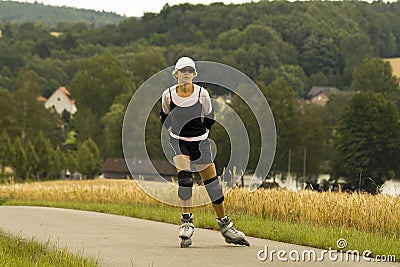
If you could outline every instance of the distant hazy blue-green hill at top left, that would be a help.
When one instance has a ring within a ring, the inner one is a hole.
[[[55,7],[41,3],[0,1],[0,23],[41,23],[47,26],[59,22],[84,22],[101,26],[118,24],[125,17],[116,13],[71,7]]]

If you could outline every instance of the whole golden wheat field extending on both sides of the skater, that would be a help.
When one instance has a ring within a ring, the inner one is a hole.
[[[157,186],[162,188],[163,183]],[[0,199],[166,205],[147,195],[134,180],[108,179],[2,185]],[[400,239],[399,197],[284,189],[249,193],[245,188],[234,188],[227,194],[225,205],[237,214],[352,228]],[[209,210],[208,206],[199,209]]]

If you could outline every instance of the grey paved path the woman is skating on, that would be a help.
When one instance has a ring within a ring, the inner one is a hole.
[[[94,256],[100,266],[400,266],[366,262],[362,257],[360,262],[340,261],[340,256],[332,261],[327,254],[323,262],[310,262],[308,254],[306,261],[302,261],[304,250],[314,250],[317,258],[321,250],[251,237],[247,238],[250,247],[240,247],[226,244],[219,232],[198,228],[193,245],[182,249],[177,225],[67,209],[0,206],[0,228]],[[261,261],[259,258],[265,257],[265,253],[260,251],[265,251],[265,246],[269,252],[286,251],[283,258],[288,261],[279,261],[276,254],[272,262],[270,258]],[[300,261],[289,258],[289,253],[296,256],[292,250],[299,252]]]

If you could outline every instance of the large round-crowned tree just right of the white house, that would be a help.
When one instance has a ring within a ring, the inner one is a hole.
[[[79,140],[92,138],[105,147],[100,119],[108,112],[116,96],[133,86],[128,72],[111,54],[96,55],[83,60],[78,73],[71,81],[71,94],[76,99],[78,112],[72,124]]]

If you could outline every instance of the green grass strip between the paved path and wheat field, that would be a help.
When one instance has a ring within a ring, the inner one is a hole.
[[[167,205],[121,205],[77,202],[45,202],[3,200],[3,205],[47,206],[77,210],[96,211],[153,221],[180,223],[180,210]],[[195,212],[195,226],[206,229],[217,229],[213,210],[204,207]],[[336,241],[346,239],[349,250],[372,251],[375,255],[395,255],[400,260],[400,240],[395,237],[385,237],[376,233],[361,232],[354,229],[339,227],[317,227],[304,223],[273,221],[261,216],[249,216],[230,213],[235,226],[248,236],[276,240],[321,249],[338,249]]]

